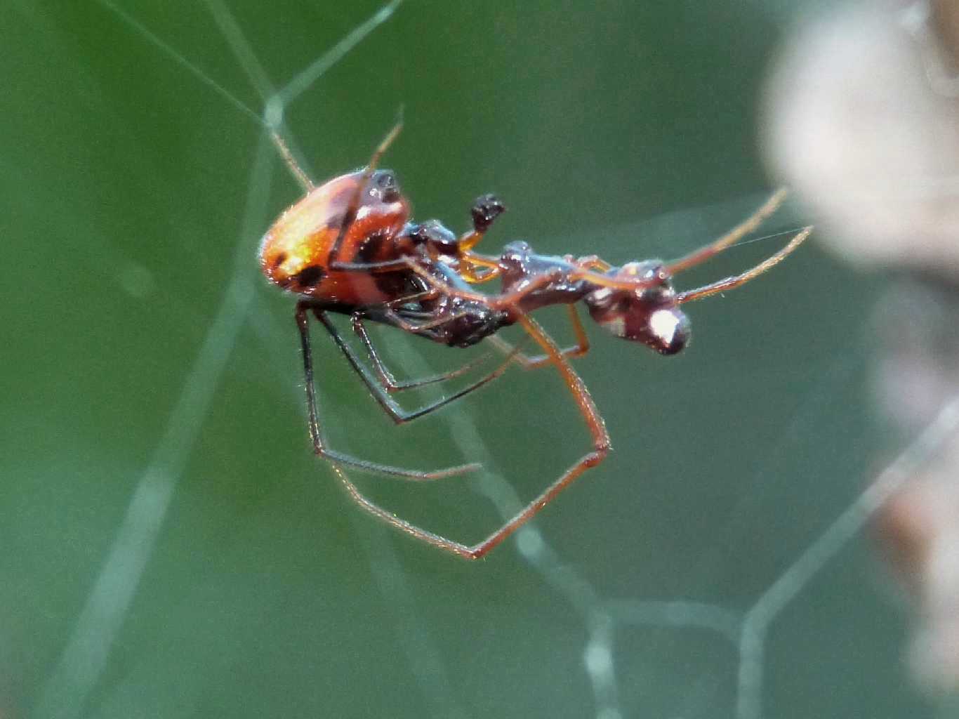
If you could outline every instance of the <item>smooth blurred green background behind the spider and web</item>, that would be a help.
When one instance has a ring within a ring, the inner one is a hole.
[[[735,638],[648,602],[747,611],[895,451],[867,408],[879,280],[810,244],[691,306],[678,358],[590,328],[576,366],[616,451],[534,522],[546,553],[530,564],[510,540],[469,564],[411,542],[309,451],[292,297],[254,261],[299,190],[227,97],[262,111],[229,27],[280,86],[381,4],[225,3],[14,0],[0,20],[0,715],[755,711],[741,695],[737,709]],[[803,9],[408,0],[285,108],[287,127],[322,179],[362,165],[403,104],[385,164],[416,217],[464,229],[496,192],[509,212],[487,251],[524,238],[615,263],[677,256],[775,184],[761,82]],[[767,234],[803,220],[785,212]],[[545,313],[568,336],[561,319]],[[378,337],[404,376],[469,354]],[[335,446],[423,468],[487,460],[494,475],[433,486],[356,477],[447,536],[502,521],[497,476],[529,498],[588,447],[550,371],[395,428],[315,342]],[[904,619],[872,550],[868,535],[843,545],[775,616],[751,689],[764,715],[936,713],[905,679]]]

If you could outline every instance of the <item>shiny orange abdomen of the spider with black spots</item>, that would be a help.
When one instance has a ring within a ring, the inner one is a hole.
[[[260,268],[270,282],[320,301],[352,307],[393,299],[375,273],[335,268],[345,263],[389,262],[410,251],[409,241],[402,236],[409,220],[409,202],[395,177],[380,170],[361,188],[363,179],[362,172],[335,177],[273,223],[259,255]],[[339,238],[351,209],[356,216]]]

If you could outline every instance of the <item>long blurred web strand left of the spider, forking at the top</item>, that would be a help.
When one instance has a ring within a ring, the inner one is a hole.
[[[212,88],[228,104],[233,105],[261,127],[264,126],[253,110],[230,94],[222,85],[178,53],[171,45],[135,18],[109,0],[98,0],[114,12],[138,35],[173,58],[199,81]],[[216,7],[216,6],[214,6]],[[223,28],[231,26],[228,12],[219,6]],[[216,14],[216,13],[215,13]],[[382,15],[382,11],[377,16]],[[357,42],[379,23],[369,26],[366,33],[349,35],[351,42],[340,42],[334,60],[342,58]],[[230,35],[227,35],[229,39]],[[250,56],[252,57],[252,56]],[[325,56],[324,56],[325,57]],[[255,60],[255,58],[253,58]],[[332,65],[329,62],[327,66]],[[258,64],[251,65],[255,74]],[[263,78],[265,78],[265,74]],[[319,75],[315,74],[318,78]],[[237,336],[245,325],[253,298],[253,275],[249,271],[250,257],[262,228],[268,221],[270,153],[269,133],[261,133],[254,152],[247,184],[246,206],[239,238],[233,257],[229,284],[222,303],[200,347],[180,390],[163,437],[158,442],[148,468],[137,483],[130,499],[124,521],[105,558],[78,616],[71,637],[67,641],[56,668],[48,677],[35,707],[35,716],[51,719],[72,719],[84,713],[90,692],[98,683],[109,659],[113,642],[129,613],[129,605],[139,587],[143,572],[159,537],[167,511],[173,500],[176,484],[183,474],[192,448],[196,444],[203,420],[209,413],[213,395],[220,384],[223,369],[236,346]]]

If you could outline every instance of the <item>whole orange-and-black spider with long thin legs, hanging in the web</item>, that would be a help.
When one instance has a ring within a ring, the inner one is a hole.
[[[386,135],[363,170],[340,175],[318,187],[299,168],[282,140],[275,137],[292,173],[303,181],[308,193],[269,228],[260,245],[259,262],[271,283],[299,297],[295,319],[303,353],[314,452],[333,463],[350,497],[373,516],[429,545],[466,559],[478,559],[528,522],[579,475],[596,467],[611,448],[605,423],[586,385],[570,364],[570,359],[585,355],[590,348],[576,311],[577,303],[582,302],[589,316],[614,335],[640,342],[662,355],[674,355],[690,337],[690,322],[681,305],[749,282],[784,260],[806,240],[812,228],[798,231],[788,244],[756,267],[685,291],[673,289],[673,276],[709,260],[758,227],[783,202],[784,189],[775,192],[751,217],[718,240],[672,262],[647,260],[614,267],[595,255],[539,255],[524,242],[506,244],[498,257],[483,255],[474,247],[503,212],[503,204],[492,195],[479,197],[471,211],[473,227],[459,237],[437,220],[410,221],[409,200],[402,194],[395,175],[377,169],[401,128],[402,123],[398,123]],[[497,294],[483,294],[471,288],[496,278],[502,282]],[[562,349],[530,316],[535,310],[557,304],[567,306],[576,338],[573,346]],[[329,313],[349,315],[372,370],[344,341]],[[589,429],[592,449],[519,514],[478,544],[465,545],[395,517],[364,497],[340,465],[428,481],[474,471],[479,464],[425,472],[370,462],[331,449],[318,419],[310,314],[330,334],[370,394],[397,424],[455,402],[500,377],[514,362],[527,368],[553,366]],[[483,358],[442,375],[398,382],[367,333],[370,322],[454,347],[488,340],[505,353],[505,359],[456,392],[405,410],[393,400],[393,393],[446,382],[468,372]],[[543,354],[527,356],[518,345],[495,336],[509,325],[520,325]]]

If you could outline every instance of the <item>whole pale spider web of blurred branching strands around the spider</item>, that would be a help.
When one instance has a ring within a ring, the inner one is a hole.
[[[258,128],[258,140],[255,147],[245,151],[249,166],[246,200],[236,229],[239,240],[227,272],[228,282],[220,290],[219,305],[212,313],[197,356],[185,374],[152,457],[136,483],[126,514],[116,527],[103,566],[88,591],[82,610],[76,616],[70,637],[56,665],[42,683],[43,688],[34,710],[34,715],[38,717],[85,715],[93,697],[97,699],[94,704],[99,709],[94,713],[98,715],[119,715],[118,707],[136,706],[136,690],[140,685],[137,682],[141,682],[142,677],[134,672],[126,680],[117,680],[114,688],[104,689],[105,676],[117,652],[124,649],[120,637],[125,625],[131,621],[132,606],[138,592],[142,591],[145,575],[151,569],[157,543],[162,541],[178,483],[188,470],[191,454],[199,445],[204,425],[213,412],[218,388],[229,371],[245,328],[251,327],[270,353],[271,381],[284,382],[290,367],[284,358],[290,354],[288,350],[292,347],[291,333],[280,327],[274,316],[258,303],[256,289],[259,279],[250,271],[256,242],[275,210],[270,200],[279,153],[272,137],[274,133],[283,137],[297,156],[302,157],[298,151],[297,140],[301,139],[297,136],[299,132],[291,132],[286,123],[286,115],[297,100],[306,93],[316,92],[325,74],[340,60],[361,52],[362,48],[368,48],[375,42],[375,35],[391,22],[394,13],[412,12],[401,7],[401,0],[378,8],[361,24],[342,35],[339,42],[328,51],[293,72],[290,80],[277,85],[270,77],[266,58],[247,38],[250,29],[244,27],[227,3],[207,0],[206,10],[213,18],[220,38],[229,47],[235,63],[243,68],[249,85],[255,91],[255,103],[251,103],[215,80],[215,76],[202,69],[189,53],[177,47],[173,39],[154,33],[150,24],[140,19],[135,12],[110,0],[98,2],[130,34],[170,60],[171,72],[182,72],[193,81],[205,85],[223,104],[235,111],[241,118],[238,122],[254,124]],[[727,201],[718,209],[705,205],[685,208],[661,215],[654,221],[643,222],[642,230],[656,236],[675,237],[678,233],[702,237],[709,235],[717,226],[720,221],[716,219],[717,215],[735,218],[751,204],[755,204],[754,196]],[[635,236],[638,227],[608,225],[602,232],[610,242],[615,243],[620,235]],[[566,246],[569,246],[568,242]],[[416,370],[429,366],[430,360],[420,354],[417,343],[402,336],[391,338],[390,342],[395,345],[395,352],[404,358],[404,370],[415,374]],[[776,436],[776,443],[759,452],[760,456],[765,457],[765,465],[760,464],[750,480],[742,486],[743,499],[726,522],[731,534],[735,535],[738,531],[737,518],[755,513],[755,505],[751,502],[755,502],[760,495],[763,483],[774,481],[779,467],[777,452],[784,444],[796,441],[794,435],[803,436],[809,425],[816,421],[810,417],[822,416],[822,407],[828,404],[831,389],[848,382],[851,373],[860,367],[864,354],[865,351],[860,349],[830,364],[823,371],[827,379],[820,378],[819,391],[808,395],[802,404],[793,408],[792,425],[781,429]],[[302,398],[299,388],[290,383],[282,386],[290,390],[289,397],[283,399],[288,400],[290,406],[300,406]],[[327,402],[328,406],[336,402],[335,396],[324,398],[332,400]],[[514,515],[522,506],[523,499],[511,480],[507,479],[512,473],[499,469],[499,452],[484,439],[471,409],[458,403],[444,411],[443,422],[459,452],[481,461],[486,467],[486,471],[470,486],[491,501],[503,519]],[[859,535],[883,499],[957,427],[959,402],[953,402],[878,475],[875,483],[864,492],[856,492],[851,496],[845,503],[845,509],[826,509],[829,516],[817,524],[815,531],[808,532],[806,541],[792,543],[796,545],[796,550],[790,556],[780,557],[780,568],[774,580],[761,586],[760,591],[752,592],[742,602],[699,601],[694,598],[694,591],[677,591],[668,594],[675,598],[664,600],[618,598],[615,582],[608,587],[601,586],[594,572],[584,567],[582,562],[576,564],[567,558],[567,545],[561,549],[555,541],[550,541],[544,535],[544,524],[541,522],[526,525],[517,533],[515,541],[504,545],[491,562],[500,561],[500,554],[515,549],[526,563],[526,574],[536,577],[528,581],[538,582],[542,591],[553,592],[567,606],[566,621],[578,629],[571,630],[567,626],[560,633],[564,637],[566,634],[575,637],[574,641],[566,641],[563,648],[558,650],[564,656],[561,659],[550,657],[548,653],[556,650],[549,648],[549,641],[533,649],[530,656],[539,655],[544,663],[552,662],[555,665],[552,671],[557,672],[552,681],[557,683],[566,681],[559,672],[569,670],[571,665],[578,663],[592,688],[593,715],[598,719],[616,719],[634,715],[636,711],[636,685],[643,684],[642,680],[637,679],[643,672],[642,661],[634,661],[630,649],[623,648],[635,646],[635,640],[629,634],[635,628],[646,632],[643,637],[651,645],[653,656],[657,648],[665,651],[664,647],[670,642],[678,642],[679,639],[675,637],[683,633],[718,638],[728,645],[730,657],[735,658],[732,661],[725,660],[726,665],[722,670],[716,669],[714,672],[690,667],[689,693],[685,696],[687,706],[671,707],[672,713],[669,715],[711,715],[713,709],[708,707],[709,700],[703,697],[710,696],[711,682],[724,681],[731,684],[735,695],[735,716],[739,719],[755,719],[765,715],[763,697],[767,692],[768,646],[770,631],[777,620],[801,600],[810,585],[828,572],[830,562]],[[617,436],[615,427],[613,434]],[[596,488],[582,491],[585,494],[593,490]],[[563,499],[573,504],[587,501],[582,495],[575,499]],[[580,509],[597,511],[589,503]],[[424,590],[418,585],[422,569],[409,568],[409,560],[398,548],[399,541],[388,529],[379,527],[352,507],[344,510],[343,514],[353,525],[350,541],[362,545],[369,577],[380,592],[386,608],[384,611],[388,617],[380,623],[391,628],[392,640],[402,650],[402,657],[393,658],[393,661],[402,665],[404,671],[408,671],[415,679],[431,715],[482,715],[483,712],[474,706],[474,702],[457,689],[461,679],[454,676],[456,670],[436,635],[432,617],[421,609]],[[566,516],[573,518],[572,514]],[[550,522],[561,520],[550,515]],[[722,539],[718,537],[717,541]],[[767,539],[775,542],[775,534]],[[608,548],[611,553],[622,550],[619,547]],[[642,561],[643,554],[639,557]],[[622,559],[624,566],[632,566],[631,557]],[[709,560],[704,559],[701,565],[681,568],[677,574],[702,579],[713,570],[708,564]],[[480,571],[482,568],[467,565],[452,571],[458,577],[462,576],[463,571]],[[496,593],[491,596],[494,597],[494,604],[502,601],[502,597]],[[359,620],[359,617],[355,620]],[[463,621],[469,622],[470,618],[465,617]],[[713,657],[710,654],[714,652],[713,649],[700,647],[699,650],[712,657],[710,661],[723,662],[717,659],[718,655]],[[731,665],[736,667],[733,672],[729,671]],[[540,673],[539,669],[534,671],[532,667],[529,667],[529,671],[531,674]],[[655,677],[656,674],[650,676]],[[496,691],[498,688],[486,686],[483,690]],[[201,713],[202,685],[185,686],[182,691],[185,698],[180,697],[180,704],[177,705],[181,712]],[[724,712],[715,709],[715,713],[721,715]]]

